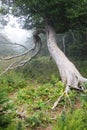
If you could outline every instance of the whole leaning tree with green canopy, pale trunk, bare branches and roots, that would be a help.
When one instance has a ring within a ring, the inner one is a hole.
[[[26,51],[21,55],[1,57],[1,59],[9,60],[30,54],[29,59],[24,61],[22,58],[18,61],[17,66],[24,65],[39,52],[42,45],[40,34],[43,33],[47,38],[48,50],[55,60],[62,82],[66,86],[64,93],[54,103],[53,109],[65,93],[68,96],[70,89],[84,91],[83,83],[87,82],[87,79],[79,73],[75,65],[59,49],[56,34],[66,32],[69,29],[85,30],[87,26],[87,0],[4,0],[3,2],[13,6],[14,15],[25,18],[25,28],[34,28],[35,46],[32,50],[25,48]],[[14,68],[14,64],[11,64],[8,69]]]

